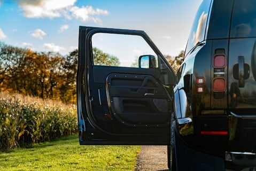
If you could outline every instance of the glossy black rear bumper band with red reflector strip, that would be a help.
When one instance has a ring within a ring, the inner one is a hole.
[[[191,119],[177,119],[177,131],[182,140],[193,149],[206,151],[214,156],[225,158],[226,152],[254,154],[256,153],[256,115],[237,113],[227,111],[223,115],[209,114],[193,116]],[[182,124],[180,120],[185,122]]]

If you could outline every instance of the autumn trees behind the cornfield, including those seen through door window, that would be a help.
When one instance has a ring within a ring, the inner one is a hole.
[[[94,63],[118,66],[117,57],[94,48]],[[184,52],[167,61],[177,70]],[[76,103],[78,50],[63,56],[56,52],[35,52],[0,42],[0,91],[36,96],[42,99]],[[113,63],[113,64],[110,64]]]

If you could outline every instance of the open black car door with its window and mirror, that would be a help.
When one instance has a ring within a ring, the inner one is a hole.
[[[145,32],[80,26],[80,144],[169,145],[175,83]]]

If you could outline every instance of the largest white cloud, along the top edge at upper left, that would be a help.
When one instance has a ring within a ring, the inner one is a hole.
[[[0,0],[1,1],[1,0]],[[75,18],[81,21],[94,21],[100,23],[100,19],[95,15],[107,15],[107,10],[94,9],[92,6],[75,6],[76,0],[17,0],[20,8],[28,18]]]

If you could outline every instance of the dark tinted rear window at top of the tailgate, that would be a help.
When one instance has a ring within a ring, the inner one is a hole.
[[[256,36],[256,1],[237,0],[231,20],[230,37]]]

